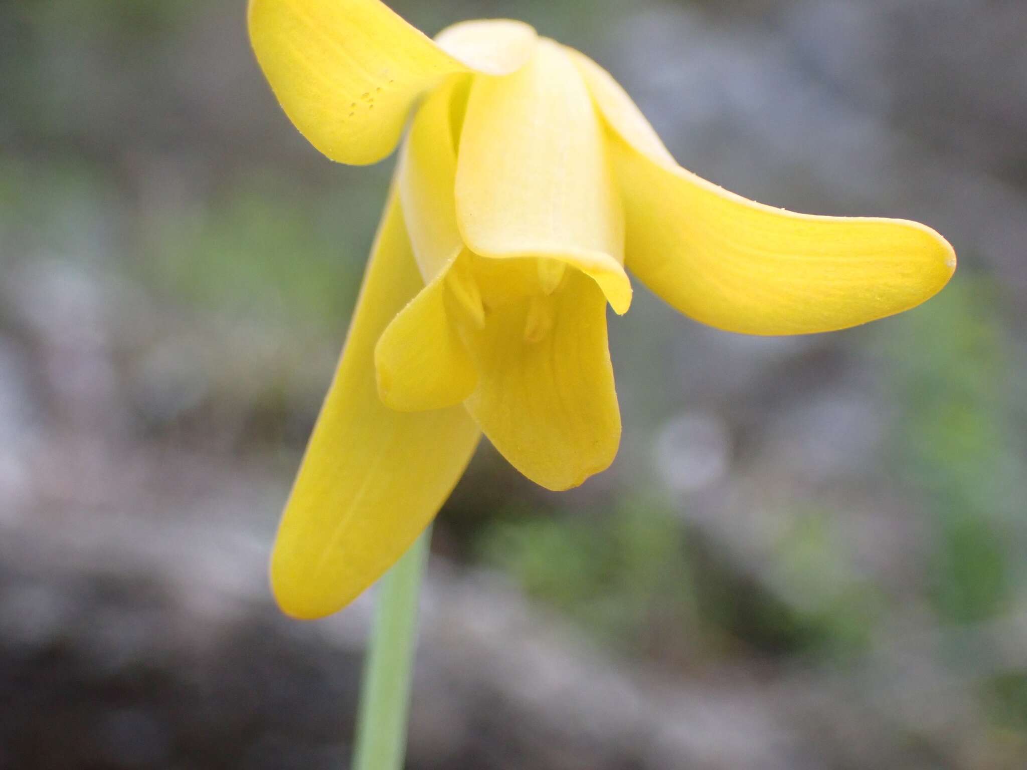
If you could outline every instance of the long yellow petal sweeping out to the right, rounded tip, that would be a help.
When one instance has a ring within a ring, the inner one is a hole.
[[[746,334],[830,332],[915,307],[955,270],[916,222],[793,214],[681,168],[613,78],[574,61],[614,134],[627,266],[681,312]]]

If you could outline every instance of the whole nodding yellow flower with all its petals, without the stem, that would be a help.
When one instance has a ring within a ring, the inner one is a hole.
[[[754,335],[914,307],[955,269],[915,222],[792,214],[679,166],[598,65],[527,25],[425,37],[377,0],[251,0],[271,88],[325,155],[374,163],[413,122],[342,359],[271,560],[289,614],[342,608],[442,507],[484,432],[550,490],[613,461],[606,304],[632,273]]]

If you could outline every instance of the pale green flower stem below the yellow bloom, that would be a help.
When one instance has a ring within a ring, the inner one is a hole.
[[[381,579],[360,685],[353,770],[402,770],[417,648],[417,600],[431,528]]]

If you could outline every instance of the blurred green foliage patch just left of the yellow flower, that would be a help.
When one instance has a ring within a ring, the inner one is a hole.
[[[244,180],[210,207],[162,222],[144,269],[165,294],[206,311],[338,332],[374,227],[370,218],[347,227],[347,202],[270,176]]]

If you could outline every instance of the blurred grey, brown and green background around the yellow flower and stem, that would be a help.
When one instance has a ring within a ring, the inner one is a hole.
[[[1027,766],[1027,4],[434,0],[587,52],[687,167],[944,233],[900,317],[755,339],[636,281],[624,434],[439,518],[414,770]],[[265,565],[392,160],[274,103],[242,0],[0,2],[0,768],[344,767],[372,596]]]

